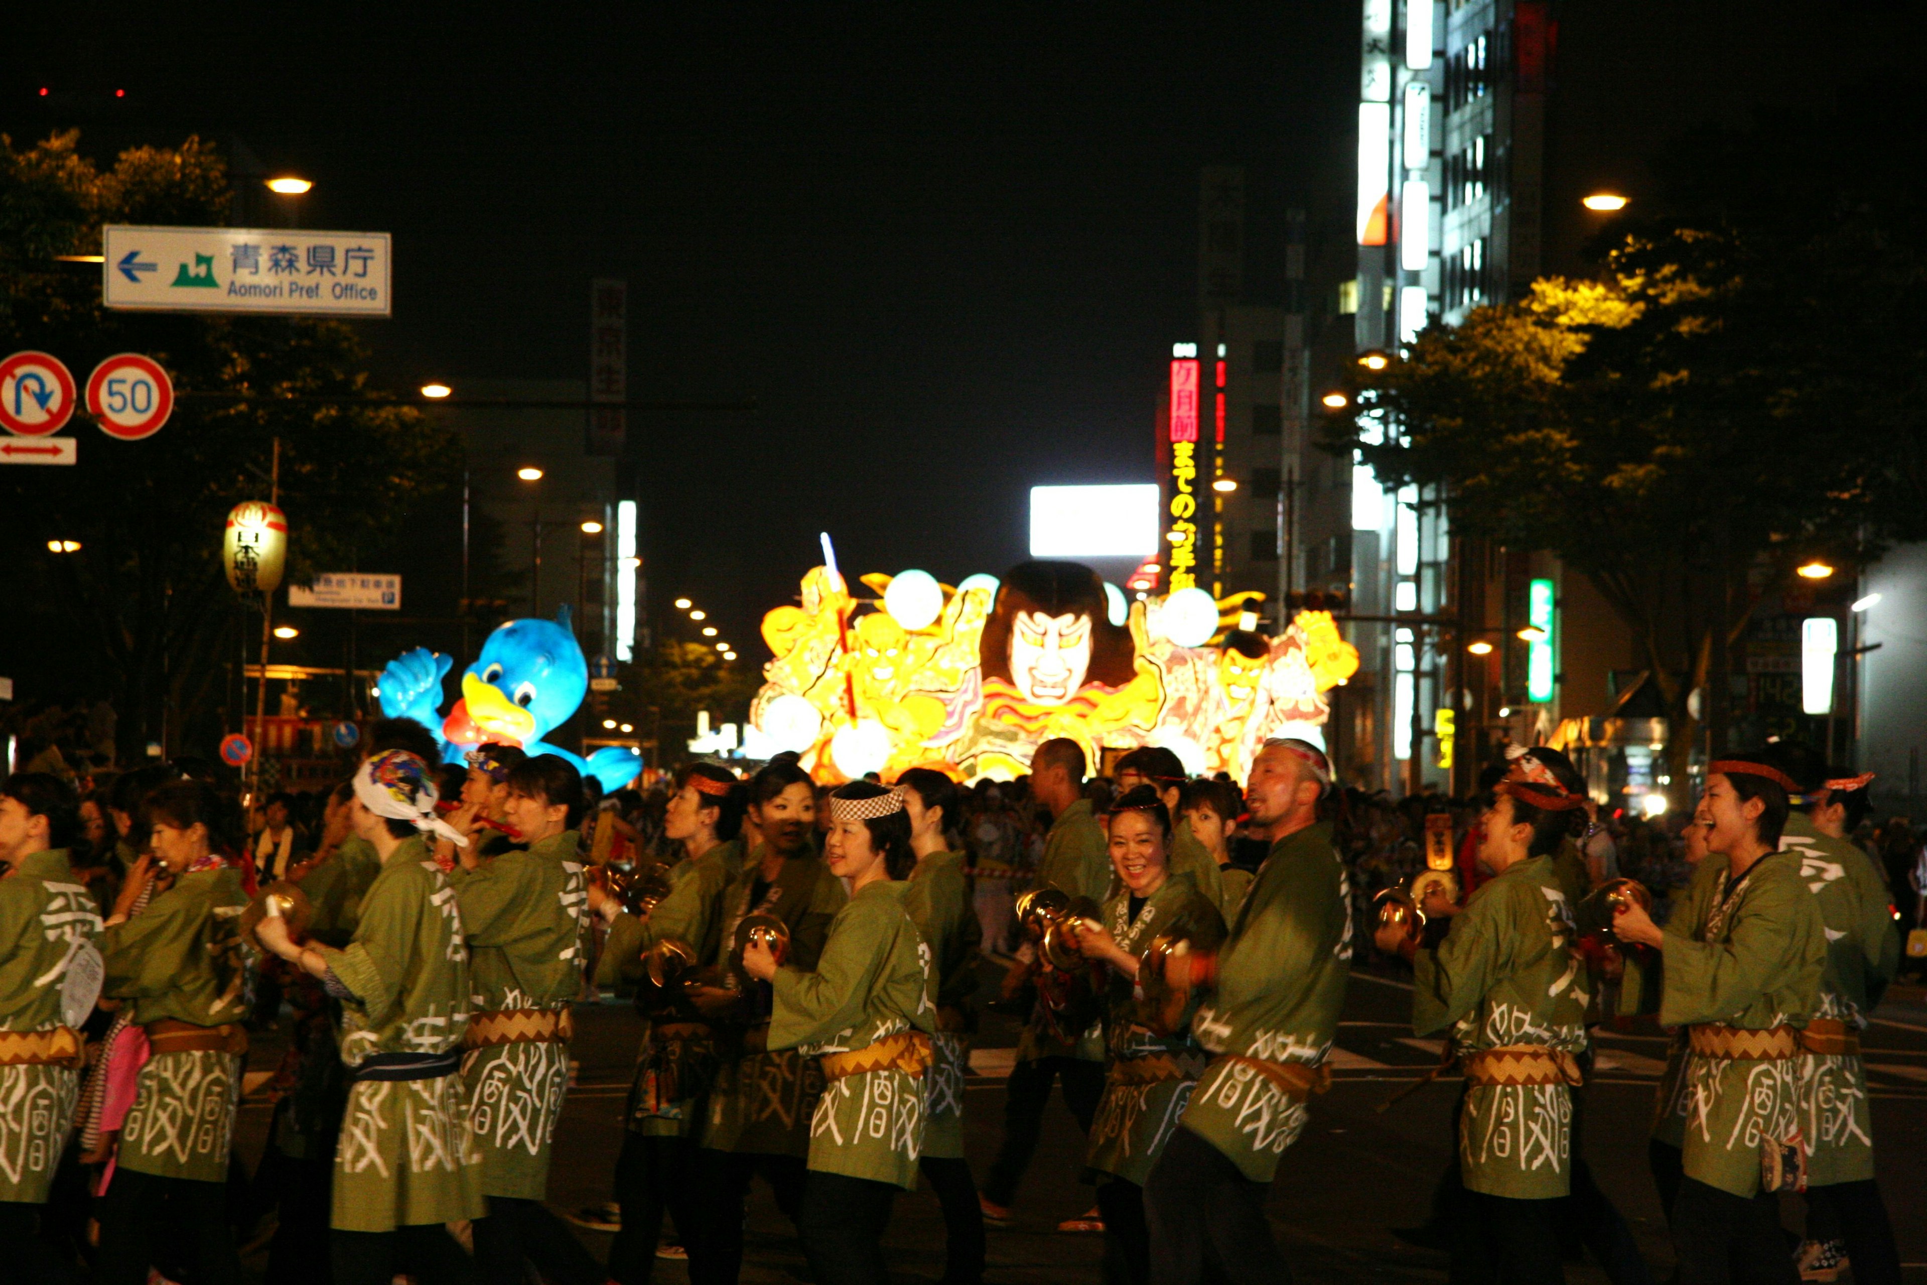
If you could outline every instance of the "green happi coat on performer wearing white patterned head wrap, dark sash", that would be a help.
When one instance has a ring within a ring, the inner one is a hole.
[[[420,838],[403,840],[360,904],[347,950],[318,948],[341,1004],[341,1062],[374,1054],[447,1054],[468,1031],[468,948],[447,875]],[[482,1218],[482,1148],[468,1129],[461,1073],[349,1087],[335,1144],[331,1227]]]

